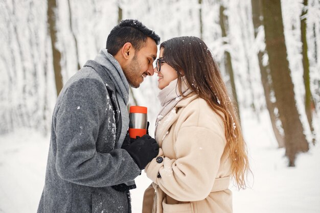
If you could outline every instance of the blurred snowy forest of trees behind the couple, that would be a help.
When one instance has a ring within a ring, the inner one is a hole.
[[[240,119],[249,110],[269,122],[289,166],[319,143],[319,0],[0,0],[0,11],[0,134],[50,133],[63,84],[105,48],[121,19],[133,18],[162,41],[202,38]],[[131,89],[130,104],[148,106],[151,124],[160,107],[156,85],[148,77]]]

